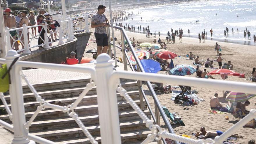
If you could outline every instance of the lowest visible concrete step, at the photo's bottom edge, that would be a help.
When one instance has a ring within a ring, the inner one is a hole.
[[[142,142],[151,131],[149,129],[139,129],[127,132],[121,132],[121,142],[122,143],[138,143]],[[94,137],[96,141],[101,143],[101,137]],[[90,144],[88,138],[70,138],[56,141],[57,144]]]

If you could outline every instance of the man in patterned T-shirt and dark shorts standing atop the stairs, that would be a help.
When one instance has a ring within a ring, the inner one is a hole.
[[[108,35],[106,32],[106,26],[108,25],[108,19],[103,14],[105,12],[106,6],[99,5],[98,12],[93,15],[91,27],[95,28],[95,38],[97,43],[97,53],[106,53],[109,48]],[[103,47],[103,49],[102,49]]]

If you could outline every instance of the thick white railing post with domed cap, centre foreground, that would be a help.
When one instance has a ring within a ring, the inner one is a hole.
[[[95,63],[102,144],[121,143],[116,90],[114,86],[109,86],[109,78],[113,73],[113,62],[108,54],[102,53],[97,57]]]

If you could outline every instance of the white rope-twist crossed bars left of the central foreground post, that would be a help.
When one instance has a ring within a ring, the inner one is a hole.
[[[47,108],[51,108],[51,109],[58,109],[63,111],[64,113],[67,113],[70,117],[72,117],[73,120],[75,120],[75,122],[77,123],[77,125],[82,129],[83,133],[86,135],[86,137],[89,139],[89,141],[92,144],[97,144],[98,142],[95,141],[95,139],[93,138],[93,136],[90,134],[90,132],[86,129],[86,127],[83,125],[83,122],[78,118],[77,113],[74,112],[74,109],[77,107],[77,105],[79,104],[79,102],[81,102],[81,100],[83,99],[83,97],[88,93],[89,90],[91,90],[93,88],[93,86],[95,86],[95,83],[93,82],[92,79],[90,79],[90,83],[86,84],[86,88],[83,90],[83,92],[79,95],[79,97],[75,100],[75,102],[73,102],[72,104],[69,104],[67,106],[59,106],[56,104],[50,104],[48,102],[45,102],[45,99],[42,99],[42,97],[37,93],[37,91],[35,90],[34,86],[29,82],[28,78],[26,77],[26,75],[24,75],[21,72],[21,76],[22,78],[25,80],[25,82],[27,83],[28,87],[30,88],[30,90],[32,91],[32,93],[35,95],[36,100],[39,102],[39,106],[37,107],[35,113],[31,116],[31,118],[29,119],[28,122],[26,122],[25,127],[26,129],[29,129],[29,127],[31,126],[32,122],[35,120],[36,116],[38,115],[38,113],[40,113],[40,111],[47,109]]]

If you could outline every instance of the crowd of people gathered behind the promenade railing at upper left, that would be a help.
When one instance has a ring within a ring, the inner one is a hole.
[[[53,22],[56,22],[52,15],[49,13],[46,13],[46,11],[41,8],[39,10],[39,15],[35,17],[34,11],[30,11],[27,13],[26,10],[22,10],[21,12],[17,12],[16,16],[12,15],[12,10],[10,8],[6,8],[3,11],[4,15],[4,25],[7,26],[10,30],[10,43],[11,45],[14,45],[14,49],[18,50],[19,45],[22,45],[22,48],[24,48],[24,33],[22,30],[18,31],[12,31],[12,29],[20,28],[23,26],[23,24],[26,24],[26,26],[34,26],[34,25],[46,25],[47,26],[47,33],[51,33],[51,38],[49,38],[49,41],[55,42],[57,39],[57,34],[54,33],[56,31],[56,24],[51,24]],[[36,31],[36,27],[31,28],[31,35],[32,36],[38,36],[38,45],[41,45],[44,43],[45,37],[44,34],[46,33],[45,29],[42,29],[42,26],[38,26],[38,31]],[[39,35],[36,35],[38,32]],[[28,36],[28,43],[29,43],[29,29],[27,31]],[[14,40],[20,39],[22,43]],[[43,49],[42,46],[39,46],[39,49]]]

